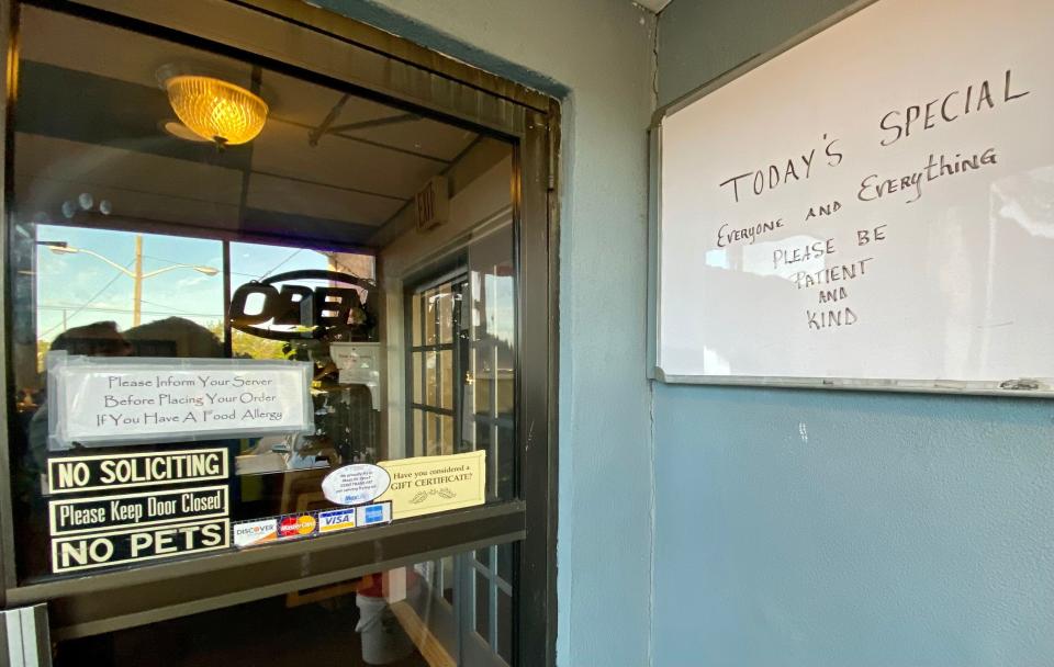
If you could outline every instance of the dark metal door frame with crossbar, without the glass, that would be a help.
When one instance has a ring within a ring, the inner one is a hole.
[[[13,222],[13,213],[8,210],[14,159],[10,128],[18,99],[19,15],[23,4],[232,55],[514,142],[519,495],[505,502],[402,520],[368,531],[20,585],[14,562],[8,408],[0,411],[2,607],[47,602],[53,636],[75,638],[516,542],[514,655],[522,665],[554,665],[559,102],[296,0],[0,0],[0,42],[7,56],[7,94],[0,102],[4,138],[0,219],[8,224]],[[0,235],[0,253],[4,257],[5,246],[7,233]],[[7,381],[0,387],[0,398],[10,406],[11,281],[7,272],[3,301],[0,330],[5,342],[0,372]]]

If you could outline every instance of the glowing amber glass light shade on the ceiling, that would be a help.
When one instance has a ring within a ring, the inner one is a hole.
[[[256,138],[267,121],[267,103],[251,92],[212,77],[179,76],[165,82],[180,122],[221,146]]]

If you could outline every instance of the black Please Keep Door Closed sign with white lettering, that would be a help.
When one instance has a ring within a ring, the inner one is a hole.
[[[223,518],[227,516],[227,487],[205,486],[52,500],[48,516],[52,535],[61,536],[104,529]]]

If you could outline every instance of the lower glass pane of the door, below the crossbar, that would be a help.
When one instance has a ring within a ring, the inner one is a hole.
[[[463,554],[149,625],[59,641],[54,647],[54,665],[512,664],[512,604],[507,592],[494,597],[493,580],[473,570],[471,554]],[[474,607],[475,613],[459,615],[462,606]]]

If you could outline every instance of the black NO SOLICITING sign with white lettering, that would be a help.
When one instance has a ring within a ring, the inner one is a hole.
[[[52,494],[110,490],[184,482],[225,481],[227,450],[181,450],[98,456],[61,456],[47,461]]]

